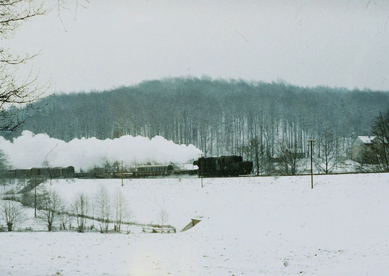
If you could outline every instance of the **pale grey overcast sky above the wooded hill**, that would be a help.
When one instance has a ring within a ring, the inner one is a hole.
[[[91,0],[61,19],[54,10],[2,41],[41,50],[22,72],[50,92],[188,75],[389,90],[387,0]]]

